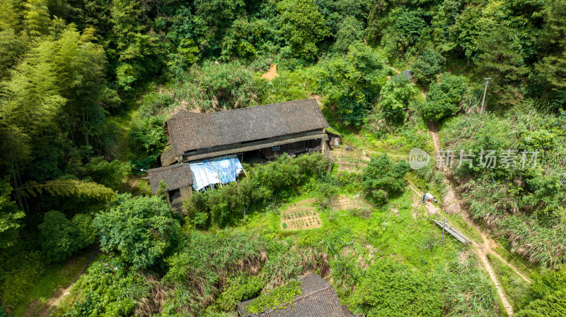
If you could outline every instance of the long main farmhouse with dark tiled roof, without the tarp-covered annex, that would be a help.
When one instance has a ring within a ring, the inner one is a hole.
[[[171,146],[161,155],[161,165],[229,154],[242,158],[255,151],[270,158],[325,150],[326,128],[315,99],[208,114],[183,112],[167,120]]]

